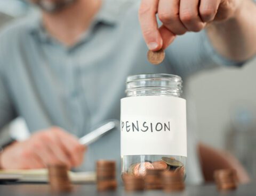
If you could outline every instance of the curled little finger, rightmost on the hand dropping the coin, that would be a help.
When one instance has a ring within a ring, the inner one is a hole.
[[[210,22],[214,20],[218,11],[219,4],[220,0],[204,0],[200,2],[199,14],[203,22]]]

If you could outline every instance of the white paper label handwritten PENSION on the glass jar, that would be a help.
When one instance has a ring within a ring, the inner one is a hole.
[[[186,100],[169,96],[121,99],[121,156],[187,157]]]

